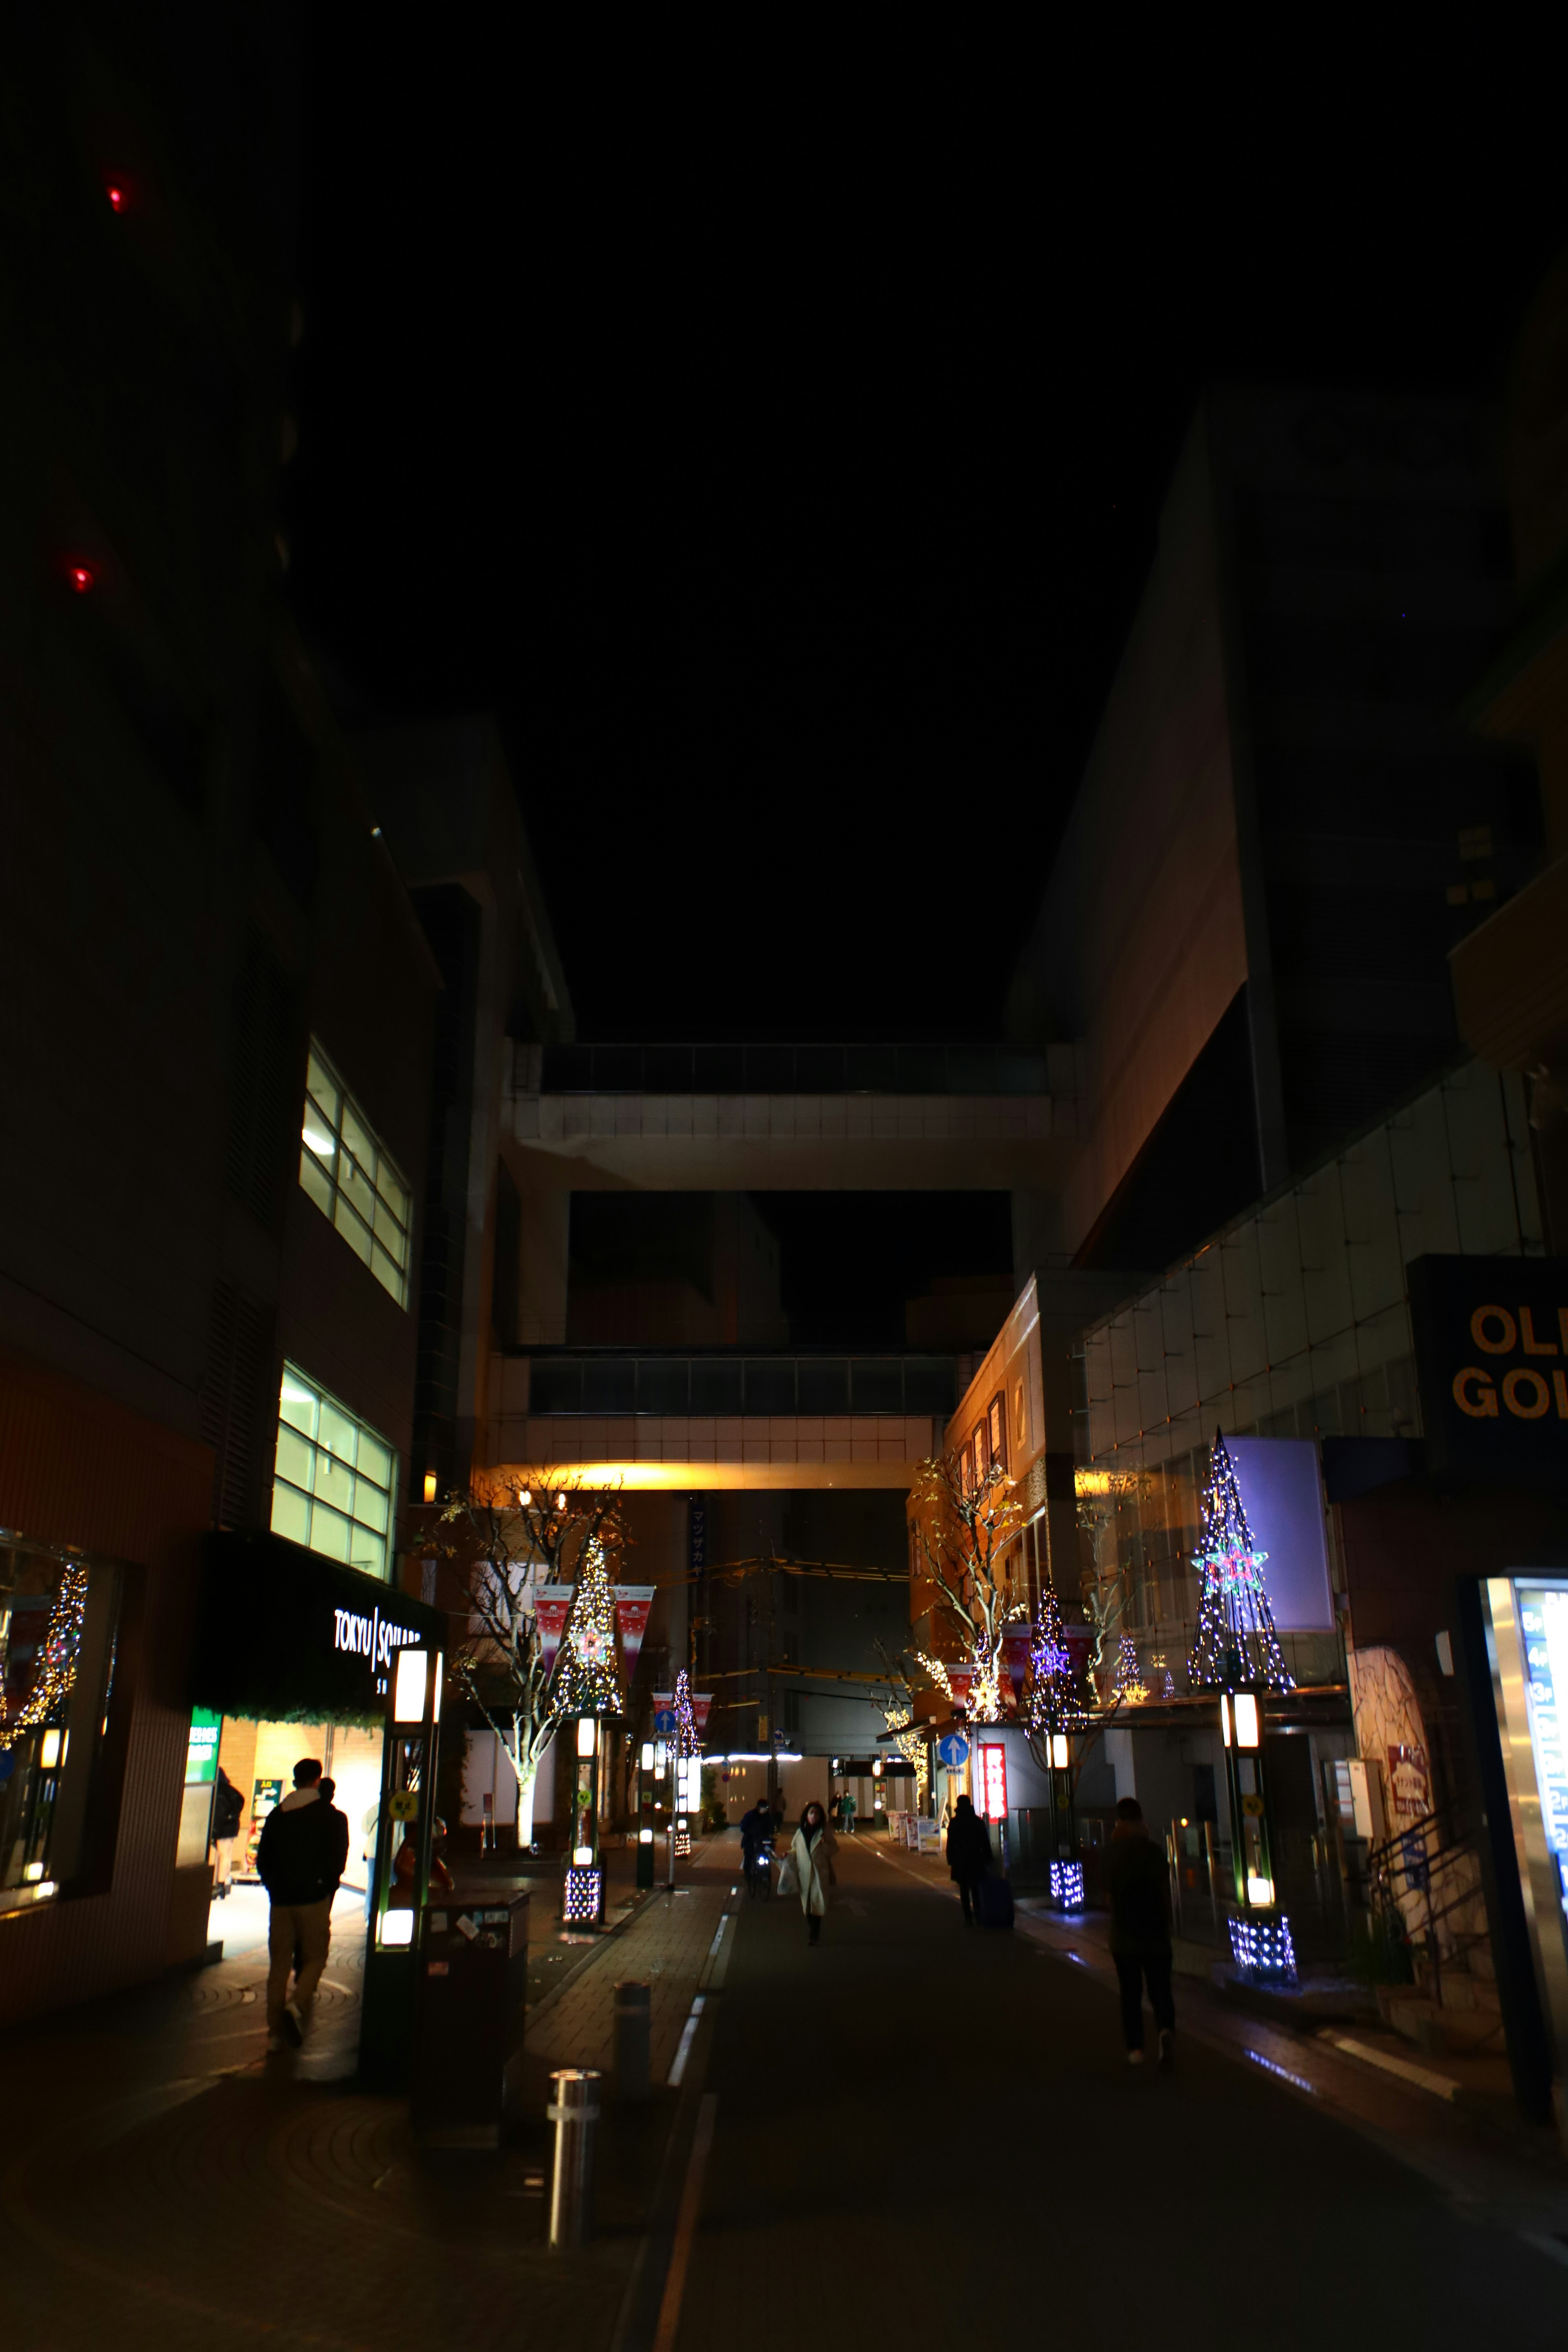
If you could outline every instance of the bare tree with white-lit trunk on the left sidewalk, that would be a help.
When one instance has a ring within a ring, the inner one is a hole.
[[[576,1712],[576,1686],[557,1672],[567,1644],[541,1637],[538,1592],[576,1585],[590,1559],[614,1578],[628,1543],[621,1494],[588,1489],[574,1470],[529,1470],[508,1484],[480,1475],[468,1494],[447,1498],[442,1526],[451,1534],[440,1550],[468,1613],[451,1675],[512,1766],[522,1849],[534,1842],[538,1764]]]

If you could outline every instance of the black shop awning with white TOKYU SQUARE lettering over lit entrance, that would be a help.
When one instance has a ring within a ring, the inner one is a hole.
[[[447,1649],[447,1611],[282,1536],[202,1538],[195,1708],[263,1722],[378,1724],[404,1642]]]

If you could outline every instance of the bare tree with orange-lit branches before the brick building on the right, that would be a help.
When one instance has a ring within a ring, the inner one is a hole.
[[[959,1656],[943,1661],[919,1651],[919,1663],[938,1689],[952,1696],[947,1663],[969,1665],[973,1686],[969,1715],[976,1724],[1001,1722],[1001,1637],[1027,1609],[1013,1597],[1004,1559],[1023,1529],[1023,1505],[1013,1482],[992,1463],[983,1475],[964,1475],[957,1454],[924,1461],[910,1491],[914,1576],[933,1588],[931,1637],[947,1632]]]

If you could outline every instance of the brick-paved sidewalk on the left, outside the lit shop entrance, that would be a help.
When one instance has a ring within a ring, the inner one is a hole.
[[[618,1933],[559,1945],[571,1978],[541,2004],[522,2124],[498,2152],[418,2150],[407,2103],[355,2086],[353,1898],[334,1919],[299,2056],[263,2056],[263,1950],[5,2034],[7,2352],[607,2345],[675,2093],[607,2103],[599,2237],[557,2256],[545,2246],[548,2067],[609,2058],[614,1985],[637,1973],[654,1983],[656,2082],[668,2077],[738,1875],[724,1842],[686,1870],[689,1891],[644,1900]],[[538,1893],[529,1943],[545,1955],[557,1931]]]

